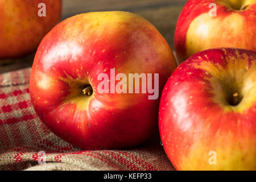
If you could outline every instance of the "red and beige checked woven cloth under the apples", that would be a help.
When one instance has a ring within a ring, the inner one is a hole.
[[[0,75],[1,170],[174,170],[158,137],[131,150],[82,151],[56,137],[31,104],[31,69]],[[46,163],[39,164],[39,152]]]

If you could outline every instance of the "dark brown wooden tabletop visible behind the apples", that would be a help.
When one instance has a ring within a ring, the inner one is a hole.
[[[186,0],[63,0],[62,20],[90,11],[130,11],[150,21],[174,49],[174,30]],[[32,66],[35,53],[0,61],[0,73]]]

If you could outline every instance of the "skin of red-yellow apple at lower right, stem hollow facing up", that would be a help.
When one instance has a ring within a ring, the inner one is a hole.
[[[256,52],[196,53],[164,86],[159,130],[178,170],[256,170]],[[234,106],[233,94],[242,100]],[[210,165],[210,151],[217,164]]]

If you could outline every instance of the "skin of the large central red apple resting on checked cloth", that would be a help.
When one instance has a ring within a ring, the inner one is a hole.
[[[159,73],[161,92],[176,60],[158,30],[138,15],[94,12],[64,20],[35,55],[30,95],[36,113],[53,133],[85,150],[143,143],[157,130],[160,93],[157,100],[148,93],[99,93],[98,75],[110,78],[113,68],[115,74]],[[85,84],[92,85],[91,96],[82,94]]]

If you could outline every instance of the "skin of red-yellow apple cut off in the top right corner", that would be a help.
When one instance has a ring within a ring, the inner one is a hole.
[[[230,2],[229,5],[226,2]],[[236,47],[256,51],[256,0],[189,0],[177,20],[175,53],[182,63],[209,48]],[[216,16],[210,16],[216,3]],[[240,6],[245,10],[236,10]]]

